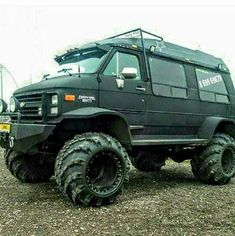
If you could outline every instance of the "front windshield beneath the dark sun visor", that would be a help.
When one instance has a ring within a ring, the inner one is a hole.
[[[58,72],[64,73],[95,73],[102,61],[104,60],[107,51],[92,48],[71,53],[63,58]]]

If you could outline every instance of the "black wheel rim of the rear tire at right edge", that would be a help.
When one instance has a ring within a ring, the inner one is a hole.
[[[234,172],[235,159],[232,149],[228,148],[224,150],[221,158],[221,166],[225,174],[229,175]]]

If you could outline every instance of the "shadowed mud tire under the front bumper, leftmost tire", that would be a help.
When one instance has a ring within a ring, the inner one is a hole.
[[[25,183],[46,182],[54,174],[54,163],[38,155],[27,155],[6,150],[4,158],[11,174]]]

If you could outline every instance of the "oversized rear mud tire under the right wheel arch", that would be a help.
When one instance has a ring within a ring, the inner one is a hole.
[[[222,133],[214,135],[200,157],[191,160],[192,172],[201,182],[226,184],[235,175],[235,141]]]

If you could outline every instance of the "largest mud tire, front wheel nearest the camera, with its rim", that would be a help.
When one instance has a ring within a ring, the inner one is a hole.
[[[122,145],[103,133],[84,133],[68,141],[55,164],[56,182],[74,204],[112,203],[128,180],[129,160]]]

